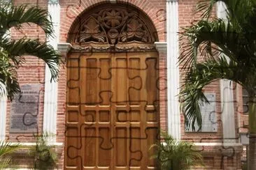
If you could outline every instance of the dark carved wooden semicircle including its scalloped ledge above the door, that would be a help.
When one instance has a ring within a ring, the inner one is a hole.
[[[102,8],[101,8],[102,7]],[[136,8],[97,6],[78,17],[69,32],[73,49],[94,51],[141,51],[155,49],[157,32]],[[134,10],[133,10],[134,9]],[[90,12],[90,13],[89,13]]]

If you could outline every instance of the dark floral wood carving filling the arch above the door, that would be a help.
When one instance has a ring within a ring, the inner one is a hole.
[[[97,9],[101,10],[94,10],[90,15],[85,15],[83,20],[76,24],[73,29],[75,33],[71,38],[73,45],[122,45],[123,48],[124,45],[130,47],[134,43],[139,47],[143,43],[145,47],[145,44],[156,41],[155,27],[145,16],[141,17],[137,10],[122,7]]]

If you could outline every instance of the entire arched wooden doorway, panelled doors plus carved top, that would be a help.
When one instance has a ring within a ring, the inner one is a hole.
[[[157,169],[157,34],[147,15],[101,4],[69,32],[64,169]]]

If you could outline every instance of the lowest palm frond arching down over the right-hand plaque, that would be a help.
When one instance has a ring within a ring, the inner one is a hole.
[[[195,123],[197,123],[201,130],[202,119],[199,105],[201,102],[208,102],[203,91],[206,85],[217,79],[229,79],[243,84],[244,74],[243,68],[235,61],[227,61],[225,56],[220,56],[220,59],[208,59],[191,68],[190,72],[187,72],[185,84],[180,91],[186,128],[192,126],[192,130],[195,130]]]

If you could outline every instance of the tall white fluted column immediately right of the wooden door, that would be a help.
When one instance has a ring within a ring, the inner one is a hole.
[[[166,0],[166,19],[168,131],[173,138],[180,139],[178,0]]]

